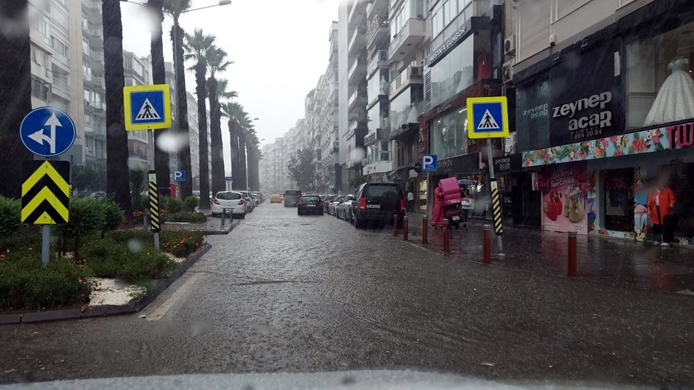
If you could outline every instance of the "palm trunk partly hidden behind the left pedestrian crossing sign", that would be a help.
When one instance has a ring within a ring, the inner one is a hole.
[[[150,42],[150,53],[152,56],[152,81],[155,84],[166,84],[167,76],[164,68],[164,42],[162,40],[162,22],[164,22],[164,12],[162,6],[164,0],[149,0],[147,7],[156,15],[157,25],[155,31],[152,32]],[[156,147],[158,140],[162,135],[166,134],[167,130],[156,130],[154,132],[154,169],[157,171],[157,187],[159,188],[159,196],[169,196],[169,153]]]

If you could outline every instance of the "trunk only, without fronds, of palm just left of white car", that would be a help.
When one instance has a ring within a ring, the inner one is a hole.
[[[208,111],[205,105],[207,85],[205,72],[208,64],[200,58],[195,65],[196,94],[198,95],[198,134],[200,154],[200,210],[210,210],[210,162],[208,161]]]

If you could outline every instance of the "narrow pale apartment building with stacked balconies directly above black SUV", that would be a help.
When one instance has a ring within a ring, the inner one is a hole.
[[[364,137],[366,165],[362,174],[371,182],[387,181],[396,169],[396,142],[390,136],[390,44],[389,1],[372,0],[366,5],[366,110],[369,133]]]

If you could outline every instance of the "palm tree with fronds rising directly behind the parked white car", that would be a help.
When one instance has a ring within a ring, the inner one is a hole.
[[[224,149],[221,143],[221,105],[219,98],[222,91],[215,78],[217,72],[224,71],[231,61],[226,59],[226,51],[214,47],[208,51],[208,67],[210,68],[210,78],[208,78],[208,92],[210,99],[210,142],[212,151],[212,193],[223,191],[224,182]],[[234,178],[236,180],[236,178]]]

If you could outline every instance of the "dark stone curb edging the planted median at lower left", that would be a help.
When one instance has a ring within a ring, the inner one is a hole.
[[[194,255],[188,257],[169,278],[162,280],[153,291],[142,298],[133,298],[125,305],[98,305],[85,306],[82,308],[65,309],[65,310],[47,310],[43,312],[27,312],[22,314],[0,314],[0,325],[15,324],[15,323],[38,323],[47,321],[87,319],[101,316],[113,316],[117,314],[133,314],[143,310],[147,305],[152,303],[164,290],[172,285],[187,271],[193,264],[200,260],[205,253],[210,251],[212,246],[205,244]]]

